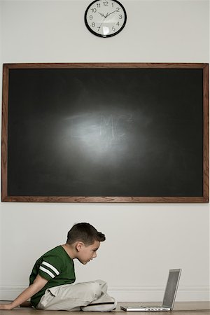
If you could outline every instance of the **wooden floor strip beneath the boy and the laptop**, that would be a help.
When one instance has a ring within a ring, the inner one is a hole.
[[[134,314],[151,314],[151,312],[148,311],[135,311],[135,312],[125,312],[120,309],[120,305],[137,305],[139,303],[137,302],[118,302],[118,306],[114,311],[112,311],[113,315],[123,315],[126,313],[134,313]],[[148,302],[142,302],[141,304],[155,304],[158,303],[148,303]],[[84,311],[71,311],[71,315],[84,315]],[[89,312],[87,312],[89,313]],[[0,315],[66,315],[66,311],[39,311],[32,308],[27,307],[17,307],[16,309],[13,309],[11,311],[1,311]],[[90,313],[89,313],[90,314]],[[94,312],[94,314],[101,314],[99,312]],[[163,313],[167,314],[167,312]],[[170,311],[168,314],[174,314],[174,315],[204,315],[208,314],[210,315],[210,302],[175,302],[174,304],[174,310]]]

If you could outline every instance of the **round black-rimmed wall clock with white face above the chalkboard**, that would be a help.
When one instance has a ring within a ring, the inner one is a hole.
[[[123,5],[116,0],[96,0],[85,11],[85,25],[92,34],[110,37],[125,27],[127,15]]]

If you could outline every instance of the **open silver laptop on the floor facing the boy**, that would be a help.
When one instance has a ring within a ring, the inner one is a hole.
[[[123,311],[172,311],[176,297],[176,291],[179,285],[181,269],[170,269],[165,288],[165,294],[161,306],[120,306]]]

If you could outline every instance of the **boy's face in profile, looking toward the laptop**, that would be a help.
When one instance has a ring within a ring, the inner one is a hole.
[[[97,250],[99,249],[100,242],[94,241],[93,244],[85,246],[84,243],[79,242],[77,245],[77,259],[83,264],[86,265],[87,262],[97,257]]]

